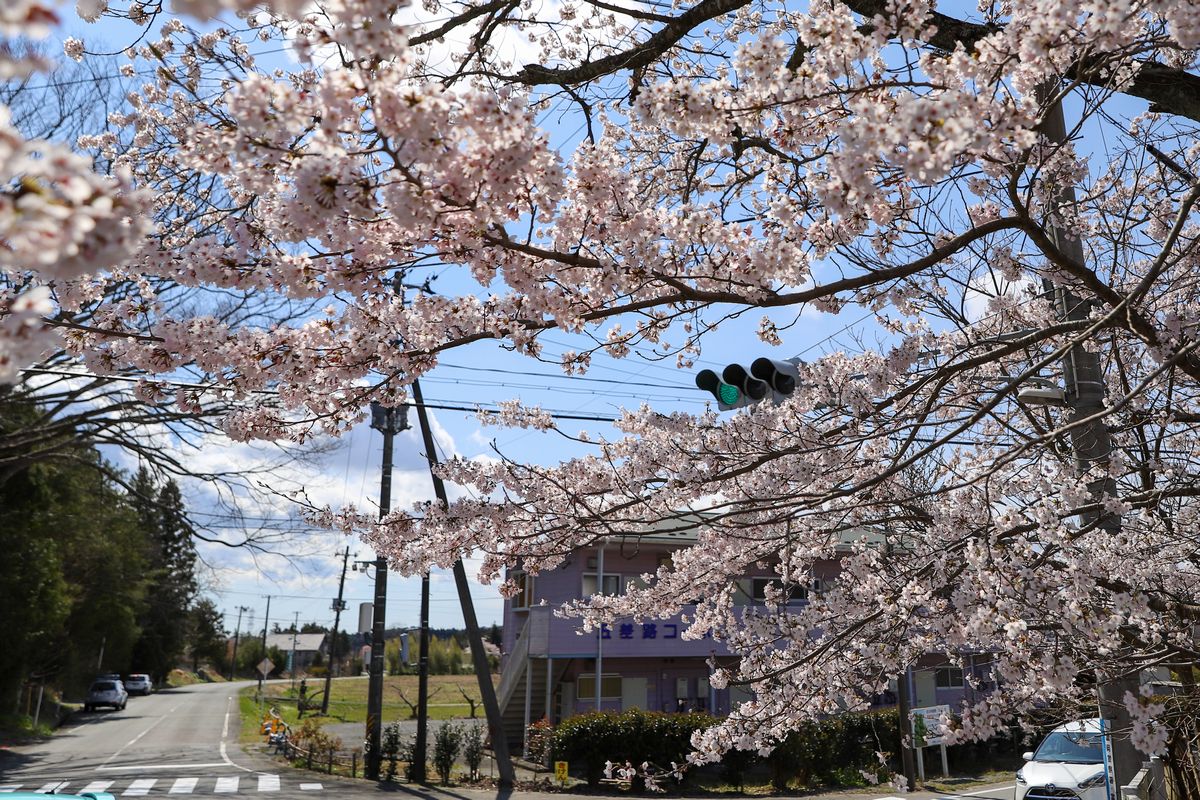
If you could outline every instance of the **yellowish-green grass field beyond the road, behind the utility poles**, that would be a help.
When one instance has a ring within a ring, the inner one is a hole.
[[[493,675],[492,680],[494,685],[499,681],[499,675]],[[320,711],[320,693],[325,688],[325,681],[324,679],[310,679],[307,688],[308,704],[310,706],[316,705],[317,709],[316,711],[306,711],[305,717],[314,716]],[[264,706],[266,709],[274,706],[284,722],[295,727],[299,721],[296,710],[299,681],[296,690],[293,690],[290,684],[268,684],[265,692]],[[475,712],[482,716],[484,709],[480,704],[479,682],[475,680],[475,675],[430,675],[431,720],[469,717],[470,703],[467,698],[475,702]],[[389,675],[385,678],[383,685],[384,722],[409,718],[412,716],[409,704],[416,704],[416,675]],[[244,740],[256,739],[259,716],[253,687],[242,690],[240,709]],[[367,720],[367,679],[335,678],[329,697],[329,716],[324,718],[330,722],[365,723]]]

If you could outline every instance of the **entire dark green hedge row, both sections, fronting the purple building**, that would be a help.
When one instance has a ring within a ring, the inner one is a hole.
[[[551,740],[552,759],[582,768],[588,784],[598,786],[604,764],[650,762],[667,766],[684,762],[691,752],[691,735],[716,723],[703,712],[661,714],[658,711],[593,711],[559,723]],[[791,783],[821,786],[857,783],[859,770],[878,774],[878,750],[895,752],[900,740],[895,709],[846,714],[809,722],[792,732],[767,757],[772,783],[784,790]],[[750,752],[726,759],[726,780],[740,784],[745,771],[758,763]],[[637,788],[637,787],[635,787]]]

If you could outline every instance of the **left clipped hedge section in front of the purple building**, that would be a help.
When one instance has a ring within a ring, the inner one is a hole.
[[[650,762],[668,766],[691,752],[691,734],[716,720],[702,712],[662,714],[659,711],[592,711],[564,720],[552,740],[553,759],[582,765],[588,786],[604,777],[604,763]]]

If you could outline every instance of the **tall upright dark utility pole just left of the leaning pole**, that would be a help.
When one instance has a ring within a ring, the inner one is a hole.
[[[407,429],[407,420],[396,409],[371,404],[371,427],[383,433],[383,469],[379,475],[379,518],[391,510],[391,450],[392,439]],[[383,667],[384,614],[388,607],[388,561],[376,558],[374,614],[371,624],[371,670],[367,679],[367,753],[364,775],[368,781],[379,780],[383,745]]]

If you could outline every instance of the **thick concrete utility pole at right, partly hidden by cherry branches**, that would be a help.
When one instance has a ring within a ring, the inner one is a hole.
[[[1057,90],[1057,84],[1044,89]],[[1067,125],[1063,120],[1062,103],[1057,102],[1046,112],[1042,132],[1055,144],[1067,143]],[[1058,190],[1058,200],[1063,205],[1074,206],[1075,188],[1063,186]],[[1086,269],[1084,243],[1070,237],[1066,231],[1050,225],[1046,229],[1055,248],[1079,269]],[[1058,315],[1062,319],[1082,320],[1091,314],[1091,303],[1074,296],[1062,287],[1045,282],[1045,290],[1052,297]],[[1067,405],[1070,408],[1070,422],[1090,420],[1072,427],[1070,447],[1075,456],[1075,469],[1080,475],[1093,468],[1099,468],[1099,477],[1087,483],[1092,498],[1116,497],[1116,479],[1109,471],[1109,458],[1112,452],[1112,439],[1108,425],[1102,416],[1104,411],[1104,372],[1100,368],[1098,353],[1090,353],[1082,343],[1076,343],[1062,361],[1063,390]],[[1085,524],[1094,524],[1109,534],[1121,530],[1121,518],[1111,511],[1092,511],[1082,516]],[[1138,673],[1126,675],[1097,675],[1100,696],[1100,717],[1112,750],[1114,788],[1130,782],[1141,769],[1141,754],[1133,746],[1129,730],[1133,721],[1124,706],[1126,692],[1138,693],[1140,679]],[[1121,732],[1123,735],[1116,735]]]

